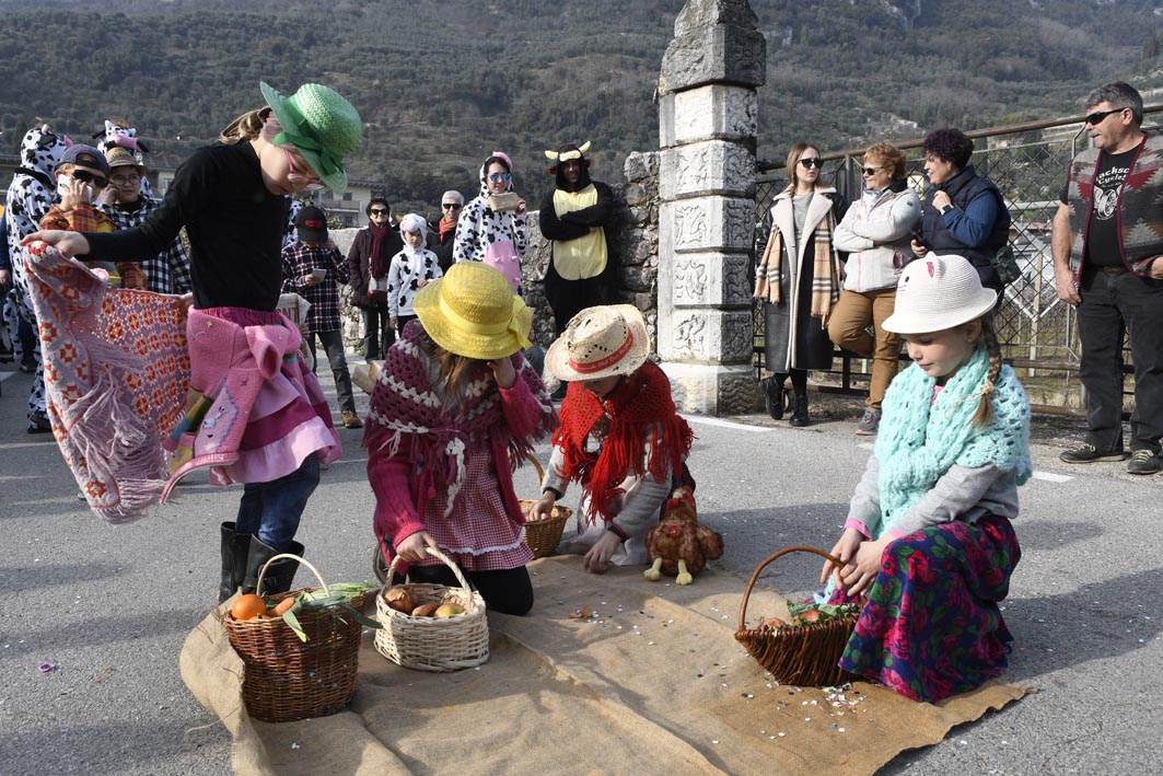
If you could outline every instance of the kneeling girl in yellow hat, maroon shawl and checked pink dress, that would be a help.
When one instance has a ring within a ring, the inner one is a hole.
[[[387,353],[364,432],[380,550],[413,582],[455,586],[426,551],[437,548],[490,608],[525,614],[533,551],[512,465],[557,425],[521,353],[533,313],[479,262],[454,264],[412,306],[419,320]]]

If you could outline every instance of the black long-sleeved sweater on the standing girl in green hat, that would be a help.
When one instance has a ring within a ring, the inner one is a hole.
[[[85,261],[141,261],[165,250],[183,226],[190,237],[194,307],[271,311],[283,285],[283,232],[290,198],[263,183],[250,143],[199,149],[177,170],[160,207],[134,229],[87,233]]]

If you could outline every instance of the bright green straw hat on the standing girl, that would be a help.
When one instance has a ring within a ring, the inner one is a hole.
[[[283,124],[274,144],[294,145],[328,188],[336,194],[345,192],[343,157],[359,148],[363,140],[363,122],[351,104],[320,84],[304,84],[291,97],[283,97],[264,83],[259,87]]]

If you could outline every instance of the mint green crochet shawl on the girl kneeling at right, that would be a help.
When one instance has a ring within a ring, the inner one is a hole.
[[[1014,472],[1019,485],[1029,479],[1029,400],[1009,366],[1001,368],[991,396],[993,419],[984,428],[970,422],[989,365],[979,344],[936,401],[936,380],[916,364],[892,380],[875,448],[880,463],[880,525],[872,539],[892,528],[954,464],[994,465]]]

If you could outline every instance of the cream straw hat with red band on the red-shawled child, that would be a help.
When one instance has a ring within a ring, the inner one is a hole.
[[[549,346],[545,369],[559,380],[600,380],[632,373],[649,355],[647,322],[637,307],[587,307]]]

